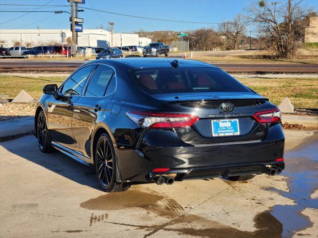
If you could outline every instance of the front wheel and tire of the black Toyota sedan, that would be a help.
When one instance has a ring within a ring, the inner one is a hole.
[[[37,117],[36,130],[40,151],[43,153],[53,152],[54,148],[51,145],[51,138],[43,111],[41,111]]]

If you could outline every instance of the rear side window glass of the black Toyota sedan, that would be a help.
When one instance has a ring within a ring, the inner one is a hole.
[[[109,81],[115,76],[115,72],[111,67],[106,65],[98,65],[93,76],[91,77],[85,96],[103,97]]]

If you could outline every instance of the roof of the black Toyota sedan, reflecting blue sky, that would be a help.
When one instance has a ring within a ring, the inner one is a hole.
[[[111,60],[95,60],[95,62],[104,62],[113,66],[121,64],[122,66],[130,66],[131,68],[154,68],[154,67],[172,67],[171,62],[177,60],[180,67],[214,67],[215,65],[198,61],[198,60],[182,60],[182,59],[164,59],[164,58],[122,58]]]

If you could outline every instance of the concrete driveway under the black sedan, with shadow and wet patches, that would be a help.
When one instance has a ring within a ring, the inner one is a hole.
[[[285,135],[280,176],[143,184],[112,194],[89,167],[41,153],[31,135],[2,142],[0,237],[318,237],[318,134]]]

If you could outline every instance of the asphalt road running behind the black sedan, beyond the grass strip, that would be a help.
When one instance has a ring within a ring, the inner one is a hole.
[[[166,58],[163,58],[166,59]],[[87,60],[0,60],[0,72],[73,71]],[[318,64],[217,63],[229,73],[318,73]]]

